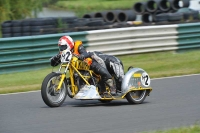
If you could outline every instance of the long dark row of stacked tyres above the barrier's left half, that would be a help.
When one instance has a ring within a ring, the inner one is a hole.
[[[2,37],[6,38],[66,33],[77,27],[101,25],[104,25],[103,19],[98,18],[54,17],[5,21],[1,24],[1,29]]]

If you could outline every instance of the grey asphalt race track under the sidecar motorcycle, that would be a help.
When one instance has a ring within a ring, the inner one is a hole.
[[[200,122],[200,75],[153,79],[143,104],[67,97],[49,108],[40,91],[0,95],[0,133],[135,133]]]

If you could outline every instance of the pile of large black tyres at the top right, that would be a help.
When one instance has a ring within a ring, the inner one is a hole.
[[[141,18],[144,23],[163,21],[166,23],[175,21],[181,23],[183,21],[199,20],[199,15],[196,15],[199,12],[189,9],[189,5],[189,0],[148,0],[146,2],[135,3],[133,10],[142,16]]]

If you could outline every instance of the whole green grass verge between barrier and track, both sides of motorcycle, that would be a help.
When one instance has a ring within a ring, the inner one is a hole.
[[[200,73],[200,51],[162,52],[118,56],[129,66],[144,69],[151,78]],[[54,71],[58,68],[54,68]],[[40,90],[44,77],[52,71],[46,69],[0,75],[0,93]]]

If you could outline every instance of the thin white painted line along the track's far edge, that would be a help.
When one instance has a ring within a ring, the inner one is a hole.
[[[181,76],[172,76],[172,77],[162,77],[162,78],[154,78],[151,80],[159,80],[159,79],[168,79],[168,78],[181,78],[181,77],[189,77],[189,76],[199,76],[200,74],[190,74],[190,75],[181,75]],[[1,95],[15,95],[15,94],[24,94],[24,93],[32,93],[32,92],[39,92],[38,91],[27,91],[27,92],[18,92],[18,93],[7,93],[7,94],[0,94]]]

